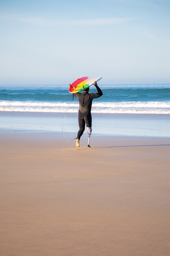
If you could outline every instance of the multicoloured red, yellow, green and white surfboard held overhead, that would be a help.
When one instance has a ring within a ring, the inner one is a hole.
[[[75,80],[72,84],[69,84],[70,87],[68,89],[68,92],[70,93],[77,93],[81,92],[84,89],[87,89],[91,85],[93,85],[96,82],[98,82],[102,77],[96,77],[96,76],[83,76],[81,78],[78,78]]]

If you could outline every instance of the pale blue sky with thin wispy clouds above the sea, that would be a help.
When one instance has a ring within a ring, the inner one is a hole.
[[[170,0],[0,0],[0,84],[170,83]]]

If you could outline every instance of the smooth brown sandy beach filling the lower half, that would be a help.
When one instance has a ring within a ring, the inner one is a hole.
[[[170,138],[86,142],[1,133],[0,255],[170,255]]]

